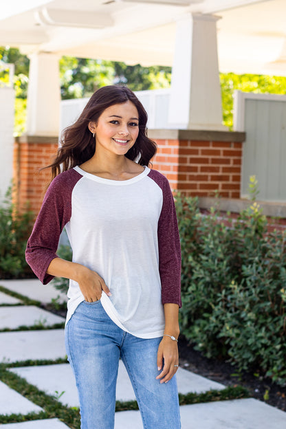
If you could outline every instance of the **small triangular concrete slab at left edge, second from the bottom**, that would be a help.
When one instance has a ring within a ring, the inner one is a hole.
[[[28,414],[28,412],[40,412],[43,409],[36,404],[13,391],[7,384],[0,382],[0,414]]]

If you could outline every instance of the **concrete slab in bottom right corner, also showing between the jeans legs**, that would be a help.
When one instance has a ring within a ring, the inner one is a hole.
[[[286,412],[257,399],[185,405],[180,407],[180,413],[181,429],[286,428]],[[115,429],[143,429],[140,412],[116,412]]]

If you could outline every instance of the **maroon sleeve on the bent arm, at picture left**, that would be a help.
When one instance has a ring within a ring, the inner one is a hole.
[[[44,285],[54,278],[47,274],[47,267],[57,257],[61,232],[72,215],[72,190],[81,177],[74,169],[55,177],[28,240],[26,261]]]

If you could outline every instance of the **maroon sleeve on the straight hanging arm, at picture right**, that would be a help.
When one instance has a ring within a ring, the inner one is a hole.
[[[163,192],[162,210],[158,221],[159,274],[162,303],[181,307],[181,245],[175,203],[168,180],[156,170],[148,174]]]

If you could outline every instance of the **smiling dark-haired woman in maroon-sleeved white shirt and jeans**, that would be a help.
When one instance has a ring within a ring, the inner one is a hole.
[[[65,341],[82,429],[114,427],[120,358],[144,429],[180,428],[179,233],[168,181],[148,168],[156,146],[146,122],[126,87],[91,96],[63,133],[27,245],[26,259],[44,284],[70,279]],[[64,227],[72,262],[56,255]]]

